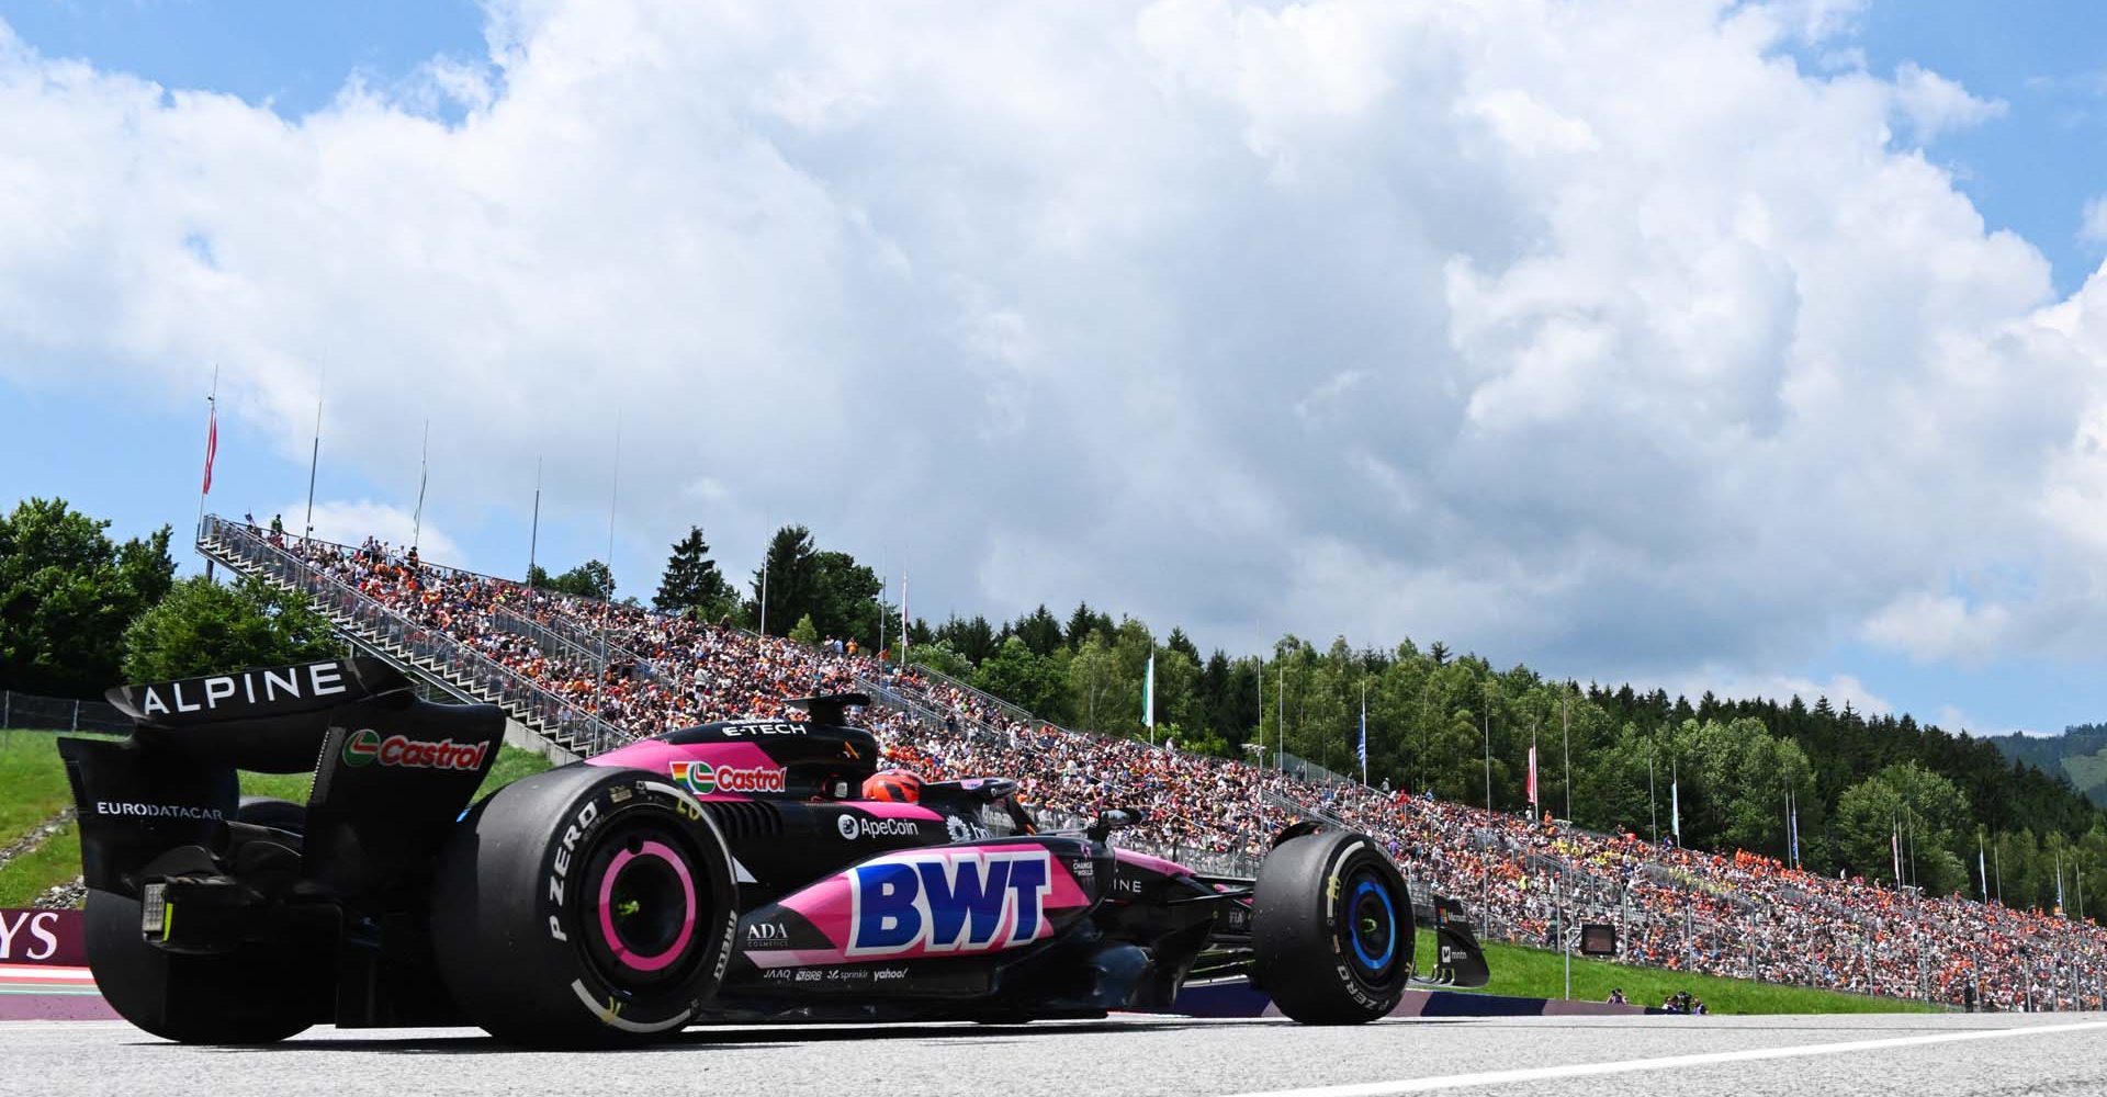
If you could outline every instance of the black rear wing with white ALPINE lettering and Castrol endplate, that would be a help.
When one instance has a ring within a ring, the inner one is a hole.
[[[428,865],[506,733],[497,705],[417,699],[375,659],[329,659],[118,686],[129,739],[59,739],[91,889],[139,895],[169,851],[225,851],[238,771],[314,773],[301,876],[371,893]]]

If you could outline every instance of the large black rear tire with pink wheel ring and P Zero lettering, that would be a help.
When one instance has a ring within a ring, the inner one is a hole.
[[[525,1046],[643,1044],[731,960],[731,853],[693,796],[636,769],[506,785],[447,838],[432,950],[470,1021]]]

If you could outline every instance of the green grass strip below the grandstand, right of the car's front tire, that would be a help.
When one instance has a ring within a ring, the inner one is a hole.
[[[1433,933],[1420,931],[1420,956],[1433,956]],[[1563,998],[1566,969],[1557,952],[1521,945],[1485,945],[1492,983],[1479,994],[1511,994],[1517,998]],[[1688,990],[1705,1000],[1711,1013],[1930,1013],[1924,1002],[1871,998],[1829,990],[1721,979],[1635,964],[1612,964],[1574,956],[1574,998],[1601,1002],[1612,988],[1624,988],[1624,998],[1641,1006],[1658,1006],[1671,994]]]

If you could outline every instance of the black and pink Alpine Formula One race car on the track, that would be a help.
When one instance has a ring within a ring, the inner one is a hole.
[[[1007,779],[864,800],[862,695],[638,739],[474,804],[504,712],[419,701],[379,661],[110,697],[129,739],[59,741],[88,964],[171,1040],[1102,1017],[1226,977],[1298,1021],[1359,1023],[1418,979],[1412,897],[1370,838],[1298,823],[1230,880],[1112,846],[1131,811],[1041,832]],[[238,794],[236,769],[310,766],[308,804]],[[1469,926],[1439,922],[1435,979],[1481,983]]]

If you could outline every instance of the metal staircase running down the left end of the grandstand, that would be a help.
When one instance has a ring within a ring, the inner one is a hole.
[[[206,516],[198,524],[198,552],[236,575],[306,594],[356,649],[451,697],[493,703],[529,735],[569,754],[600,754],[634,739],[520,672],[322,573],[253,526]]]

